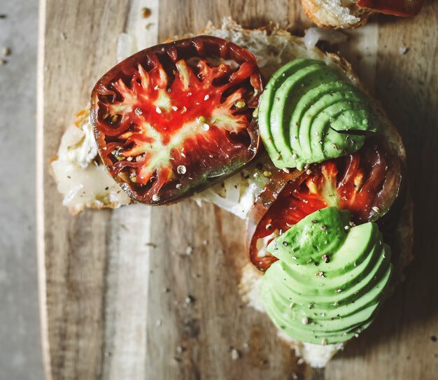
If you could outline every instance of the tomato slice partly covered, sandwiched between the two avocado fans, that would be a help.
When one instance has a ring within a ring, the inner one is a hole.
[[[276,258],[267,253],[267,244],[324,207],[348,209],[356,224],[377,220],[397,197],[401,173],[399,157],[376,139],[368,139],[352,155],[313,164],[304,171],[276,172],[248,215],[251,262],[260,270],[269,268]]]

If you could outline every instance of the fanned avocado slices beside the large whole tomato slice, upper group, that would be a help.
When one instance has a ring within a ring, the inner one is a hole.
[[[367,95],[339,69],[315,59],[296,59],[274,73],[260,97],[259,126],[280,169],[353,153],[365,134],[381,130]]]

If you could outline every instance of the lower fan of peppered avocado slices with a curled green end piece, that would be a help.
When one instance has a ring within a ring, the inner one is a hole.
[[[376,315],[392,272],[390,249],[376,224],[349,222],[348,211],[327,207],[268,246],[279,260],[262,278],[262,302],[294,339],[344,342]]]

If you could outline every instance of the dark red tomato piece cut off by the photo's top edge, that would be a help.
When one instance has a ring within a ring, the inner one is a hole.
[[[358,0],[356,4],[386,15],[409,17],[418,15],[423,8],[424,0]]]

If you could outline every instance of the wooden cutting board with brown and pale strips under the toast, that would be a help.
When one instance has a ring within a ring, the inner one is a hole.
[[[149,19],[141,6],[153,10]],[[152,45],[228,15],[246,27],[274,21],[301,34],[309,26],[297,0],[41,0],[37,196],[47,378],[437,379],[437,1],[413,19],[376,17],[342,48],[404,137],[416,260],[374,325],[325,370],[298,364],[267,316],[242,304],[243,221],[191,201],[77,217],[62,206],[48,162],[115,64],[118,34],[136,25],[140,45]]]

